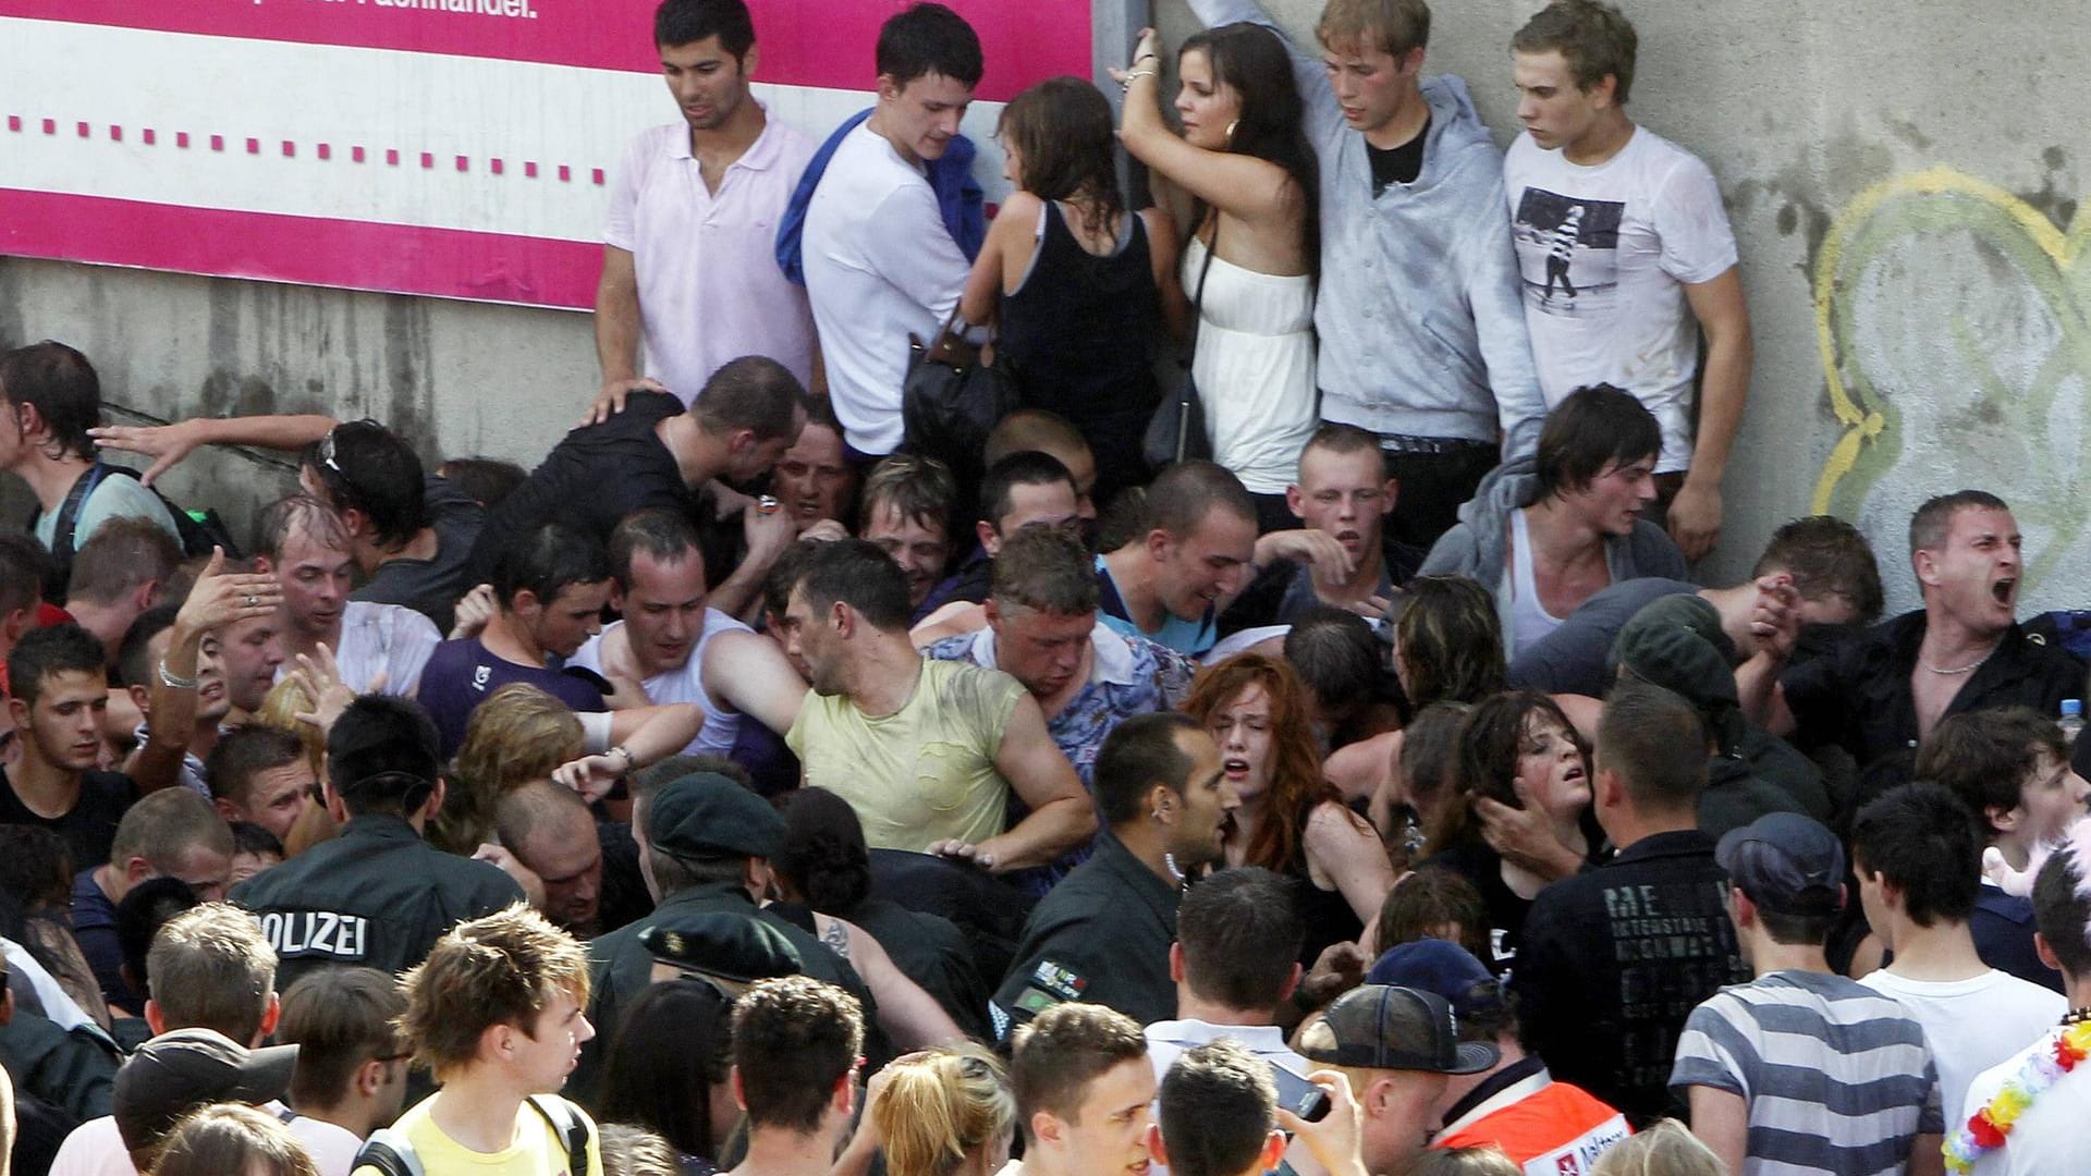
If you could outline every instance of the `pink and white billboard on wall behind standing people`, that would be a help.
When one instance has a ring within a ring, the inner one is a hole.
[[[947,0],[1004,100],[1089,75],[1092,0]],[[751,0],[757,96],[824,138],[905,0]],[[677,117],[654,0],[0,0],[0,253],[594,303],[611,172]]]

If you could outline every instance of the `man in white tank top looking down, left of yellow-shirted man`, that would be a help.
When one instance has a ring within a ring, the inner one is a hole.
[[[790,730],[805,678],[774,640],[707,605],[705,557],[686,515],[627,515],[611,532],[611,607],[625,619],[588,638],[569,665],[634,680],[654,705],[705,707],[686,755],[730,753],[742,716]]]

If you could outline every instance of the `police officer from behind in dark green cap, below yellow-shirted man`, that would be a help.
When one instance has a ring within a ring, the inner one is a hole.
[[[874,1027],[878,1007],[857,969],[790,921],[755,906],[769,887],[769,858],[784,845],[784,818],[769,801],[717,772],[692,772],[640,795],[631,818],[640,868],[661,904],[646,919],[588,944],[588,1019],[596,1025],[596,1040],[581,1046],[569,1090],[577,1090],[581,1101],[594,1094],[602,1053],[606,1042],[617,1040],[625,1007],[654,981],[646,933],[659,937],[717,912],[755,917],[784,935],[799,952],[803,975],[834,983],[864,1007],[866,1057],[891,1057],[884,1034]]]

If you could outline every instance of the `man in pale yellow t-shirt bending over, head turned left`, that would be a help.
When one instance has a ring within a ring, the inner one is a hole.
[[[876,546],[807,555],[784,613],[813,680],[786,734],[805,783],[847,799],[874,850],[1008,873],[1087,841],[1096,816],[1039,703],[1008,674],[924,659],[905,626],[905,582]],[[1031,808],[1014,827],[1012,793]]]

